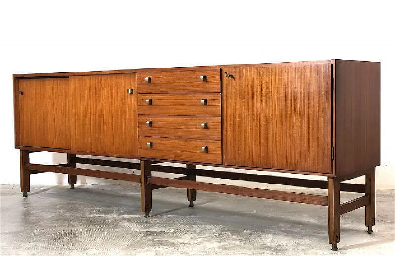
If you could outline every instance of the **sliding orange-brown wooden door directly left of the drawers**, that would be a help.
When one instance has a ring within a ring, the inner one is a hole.
[[[74,151],[137,156],[135,74],[70,77]]]

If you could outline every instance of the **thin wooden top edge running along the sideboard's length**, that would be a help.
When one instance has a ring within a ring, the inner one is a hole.
[[[128,69],[128,70],[105,70],[105,71],[84,71],[84,72],[57,72],[57,73],[34,73],[34,74],[14,74],[14,78],[24,77],[60,77],[69,75],[106,75],[106,74],[122,74],[122,73],[136,73],[149,71],[176,71],[176,70],[199,70],[207,68],[232,68],[232,67],[264,67],[264,66],[286,66],[286,65],[303,65],[303,64],[324,64],[331,63],[334,60],[315,60],[315,61],[299,61],[299,62],[273,62],[260,64],[232,64],[232,65],[217,65],[217,66],[190,66],[190,67],[173,67],[173,68],[142,68],[142,69]],[[357,60],[353,60],[357,61]],[[359,61],[359,60],[358,60]],[[369,61],[371,62],[371,61]]]

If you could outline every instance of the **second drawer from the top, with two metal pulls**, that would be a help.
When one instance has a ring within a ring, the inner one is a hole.
[[[138,94],[139,115],[221,116],[220,93]]]

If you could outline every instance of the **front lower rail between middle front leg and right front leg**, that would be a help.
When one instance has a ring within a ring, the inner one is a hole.
[[[233,194],[239,196],[250,196],[256,198],[266,198],[273,200],[290,201],[297,203],[308,203],[314,205],[328,205],[327,196],[318,196],[312,194],[302,194],[295,192],[286,192],[279,190],[268,190],[258,188],[246,188],[241,186],[231,186],[224,184],[213,184],[198,181],[181,181],[177,179],[150,177],[150,184],[161,186],[172,186],[176,188],[189,188],[201,191],[210,191],[217,193]]]

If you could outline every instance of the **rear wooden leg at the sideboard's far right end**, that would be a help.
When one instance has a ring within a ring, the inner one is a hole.
[[[373,232],[372,226],[374,226],[374,218],[376,215],[376,170],[372,168],[371,173],[366,175],[365,181],[365,194],[369,196],[369,201],[365,207],[365,226],[368,227],[368,233]]]

